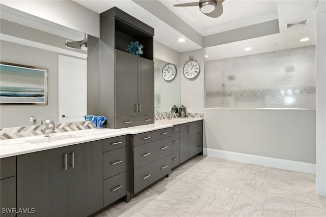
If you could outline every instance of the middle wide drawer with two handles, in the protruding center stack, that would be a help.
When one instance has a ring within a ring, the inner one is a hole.
[[[133,147],[133,168],[138,169],[171,154],[171,137]]]

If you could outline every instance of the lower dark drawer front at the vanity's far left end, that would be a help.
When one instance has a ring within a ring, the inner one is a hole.
[[[16,208],[16,176],[0,180],[1,209]],[[16,216],[15,213],[0,213],[1,217]]]

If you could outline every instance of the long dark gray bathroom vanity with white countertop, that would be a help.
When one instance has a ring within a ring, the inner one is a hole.
[[[1,208],[30,208],[1,216],[88,216],[129,202],[202,152],[202,119],[1,140]]]

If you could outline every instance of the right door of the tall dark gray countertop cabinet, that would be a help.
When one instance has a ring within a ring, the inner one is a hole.
[[[138,116],[154,115],[154,62],[137,58]]]

